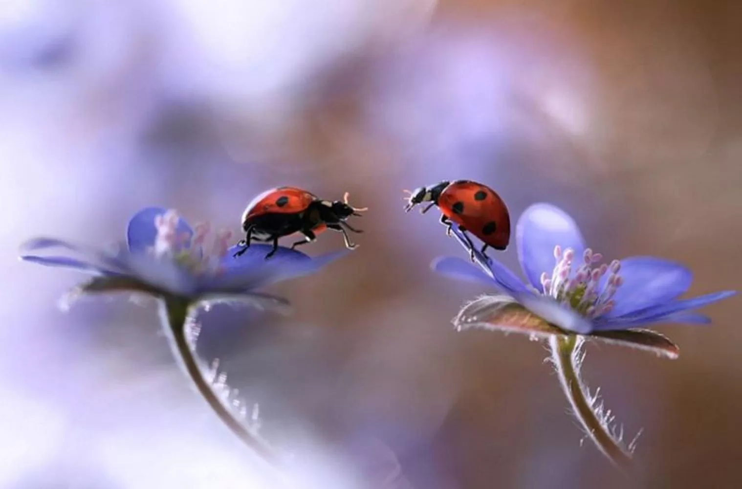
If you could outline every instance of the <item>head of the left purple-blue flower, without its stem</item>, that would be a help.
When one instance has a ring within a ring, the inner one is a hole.
[[[175,211],[142,209],[128,223],[126,245],[114,251],[76,246],[63,240],[37,238],[22,247],[22,260],[75,269],[93,275],[80,292],[125,290],[186,303],[243,301],[260,307],[286,306],[286,301],[255,292],[280,280],[317,272],[346,251],[310,258],[279,248],[269,260],[271,246],[253,244],[240,257],[229,246],[231,233],[218,232],[209,240],[208,224],[188,226]],[[39,252],[62,249],[62,254]]]

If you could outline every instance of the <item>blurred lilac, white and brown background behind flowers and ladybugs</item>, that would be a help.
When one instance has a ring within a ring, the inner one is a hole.
[[[16,256],[120,240],[150,205],[237,232],[278,185],[349,191],[361,247],[271,290],[292,317],[203,312],[198,349],[312,487],[387,466],[418,489],[740,487],[737,299],[660,327],[676,361],[588,347],[588,383],[645,428],[623,479],[580,444],[541,344],[453,331],[485,291],[429,271],[462,250],[401,189],[480,180],[513,220],[555,203],[609,258],[687,263],[698,295],[739,284],[741,157],[738,2],[0,1],[0,487],[271,487],[154,303],[61,312],[79,275]]]

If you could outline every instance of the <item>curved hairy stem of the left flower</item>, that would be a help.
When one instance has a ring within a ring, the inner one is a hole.
[[[264,462],[274,469],[280,470],[280,457],[269,445],[252,433],[248,427],[240,422],[217,396],[209,381],[204,377],[203,370],[195,356],[186,335],[186,324],[191,312],[190,305],[177,299],[165,299],[160,303],[163,329],[171,345],[175,360],[188,378],[196,387],[197,392],[206,400],[211,410],[226,424],[232,433],[248,447],[250,447]]]

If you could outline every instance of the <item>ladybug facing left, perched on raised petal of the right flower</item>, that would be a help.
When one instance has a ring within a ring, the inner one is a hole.
[[[425,214],[433,206],[441,210],[441,224],[446,226],[446,234],[451,235],[451,227],[456,224],[469,245],[474,260],[474,245],[467,231],[482,240],[482,255],[487,247],[499,251],[508,249],[510,243],[510,212],[496,191],[472,180],[444,181],[436,185],[406,190],[410,194],[405,212],[416,205],[430,202],[420,211]],[[487,256],[487,255],[485,255]]]

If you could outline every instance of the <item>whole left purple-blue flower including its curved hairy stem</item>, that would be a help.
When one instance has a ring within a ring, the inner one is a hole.
[[[126,246],[119,246],[114,252],[37,238],[25,243],[21,259],[92,275],[92,280],[76,289],[76,295],[130,292],[157,298],[162,326],[180,367],[214,413],[243,442],[275,465],[277,456],[273,450],[237,420],[205,378],[192,351],[191,320],[197,306],[223,301],[286,312],[289,306],[286,300],[257,289],[317,272],[347,252],[310,258],[291,249],[257,245],[235,259],[232,255],[237,247],[229,246],[232,233],[217,232],[211,236],[208,224],[192,229],[175,211],[155,207],[134,214],[126,238]],[[51,256],[39,254],[52,249],[63,252]],[[275,257],[266,261],[263,255],[269,250]]]

